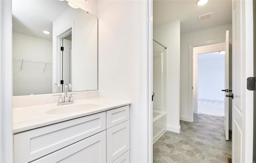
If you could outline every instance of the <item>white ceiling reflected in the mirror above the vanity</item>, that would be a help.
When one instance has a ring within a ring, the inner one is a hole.
[[[18,33],[52,40],[52,22],[68,8],[67,1],[12,0],[12,29]],[[44,30],[51,33],[44,34]]]

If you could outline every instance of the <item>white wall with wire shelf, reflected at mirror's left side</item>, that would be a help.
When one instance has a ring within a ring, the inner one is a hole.
[[[52,41],[12,33],[14,58],[52,63]],[[13,96],[52,93],[52,65],[13,61]]]

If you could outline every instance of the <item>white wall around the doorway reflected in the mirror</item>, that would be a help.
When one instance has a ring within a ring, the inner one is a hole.
[[[98,89],[98,44],[97,17],[82,9],[68,8],[54,20],[53,31],[53,68],[57,67],[56,36],[62,29],[74,23],[72,33],[72,91]],[[64,47],[65,50],[65,47]],[[58,81],[57,68],[53,71],[53,83]],[[67,84],[64,81],[64,84]]]

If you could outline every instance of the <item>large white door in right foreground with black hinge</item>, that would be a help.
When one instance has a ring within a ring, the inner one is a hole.
[[[232,0],[232,162],[252,163],[253,91],[246,79],[253,77],[252,0]]]

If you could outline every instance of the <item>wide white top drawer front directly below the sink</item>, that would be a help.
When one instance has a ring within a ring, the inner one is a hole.
[[[106,129],[106,112],[14,134],[14,162],[30,162]]]

